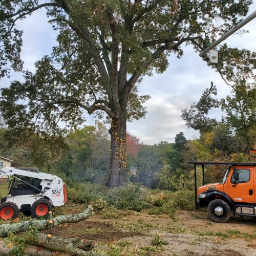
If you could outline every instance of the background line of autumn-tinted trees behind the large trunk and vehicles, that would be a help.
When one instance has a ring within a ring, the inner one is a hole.
[[[180,190],[193,188],[193,172],[187,163],[198,161],[248,161],[248,148],[256,140],[256,88],[243,80],[226,99],[216,100],[215,86],[206,89],[197,103],[182,111],[188,127],[200,131],[200,138],[187,140],[183,132],[175,142],[161,141],[154,145],[140,143],[139,138],[126,135],[128,178],[151,188]],[[202,103],[204,101],[204,104]],[[207,102],[207,104],[205,104]],[[202,108],[203,106],[203,108]],[[211,108],[221,108],[221,121],[210,119]],[[0,129],[0,154],[14,160],[15,166],[36,165],[45,172],[56,172],[78,181],[104,184],[108,177],[108,127],[97,122],[71,131],[61,144],[61,153],[52,154],[50,147],[33,135],[28,143],[12,147]],[[221,167],[206,168],[206,182],[221,180]],[[192,181],[191,181],[192,180]],[[200,182],[200,177],[199,177]]]

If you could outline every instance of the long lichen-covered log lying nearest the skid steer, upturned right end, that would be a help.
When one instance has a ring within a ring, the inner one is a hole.
[[[19,233],[29,229],[29,227],[34,226],[38,230],[47,230],[54,226],[63,223],[76,223],[79,221],[86,220],[88,217],[92,215],[93,208],[89,205],[83,212],[80,214],[75,215],[60,215],[54,217],[50,220],[31,220],[31,221],[24,221],[20,223],[13,223],[13,224],[3,224],[0,225],[0,237],[4,238],[7,237],[10,233]],[[51,215],[50,215],[51,217]]]

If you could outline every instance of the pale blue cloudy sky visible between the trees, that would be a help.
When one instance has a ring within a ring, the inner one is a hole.
[[[256,3],[250,7],[248,15],[256,10]],[[24,69],[35,71],[34,63],[42,56],[50,54],[56,45],[56,31],[49,23],[44,10],[17,23],[17,27],[24,31],[22,59]],[[256,51],[256,18],[245,25],[249,30],[244,35],[233,34],[224,42],[229,47]],[[144,144],[154,144],[160,141],[174,142],[176,134],[183,132],[187,139],[199,137],[199,133],[188,129],[181,118],[181,110],[189,108],[197,102],[205,88],[214,82],[218,90],[217,98],[230,95],[231,89],[206,62],[195,53],[191,47],[183,47],[181,59],[170,56],[169,67],[163,74],[146,76],[139,84],[139,94],[149,94],[151,99],[144,103],[147,114],[144,119],[127,123],[127,132],[135,135]],[[9,87],[11,80],[23,80],[21,73],[12,72],[11,78],[0,80],[0,88]],[[210,116],[221,120],[221,110],[210,112]],[[93,125],[94,116],[86,114],[87,125]]]

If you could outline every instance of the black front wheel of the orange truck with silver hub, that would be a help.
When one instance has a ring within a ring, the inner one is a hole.
[[[227,202],[215,199],[208,204],[207,212],[214,222],[224,223],[229,220],[231,209]]]

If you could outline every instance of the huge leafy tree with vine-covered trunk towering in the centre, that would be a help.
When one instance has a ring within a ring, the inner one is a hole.
[[[104,112],[111,122],[108,185],[126,182],[126,121],[142,117],[142,103],[148,99],[138,96],[136,83],[143,75],[165,71],[170,54],[181,57],[182,44],[191,44],[196,51],[205,48],[236,25],[251,3],[2,0],[1,76],[8,75],[8,63],[14,71],[22,70],[17,20],[46,8],[48,22],[58,31],[52,55],[36,63],[35,73],[27,71],[25,82],[14,81],[2,91],[2,112],[11,137],[31,132],[57,137],[64,130],[59,123],[69,128],[84,121],[84,111]]]

